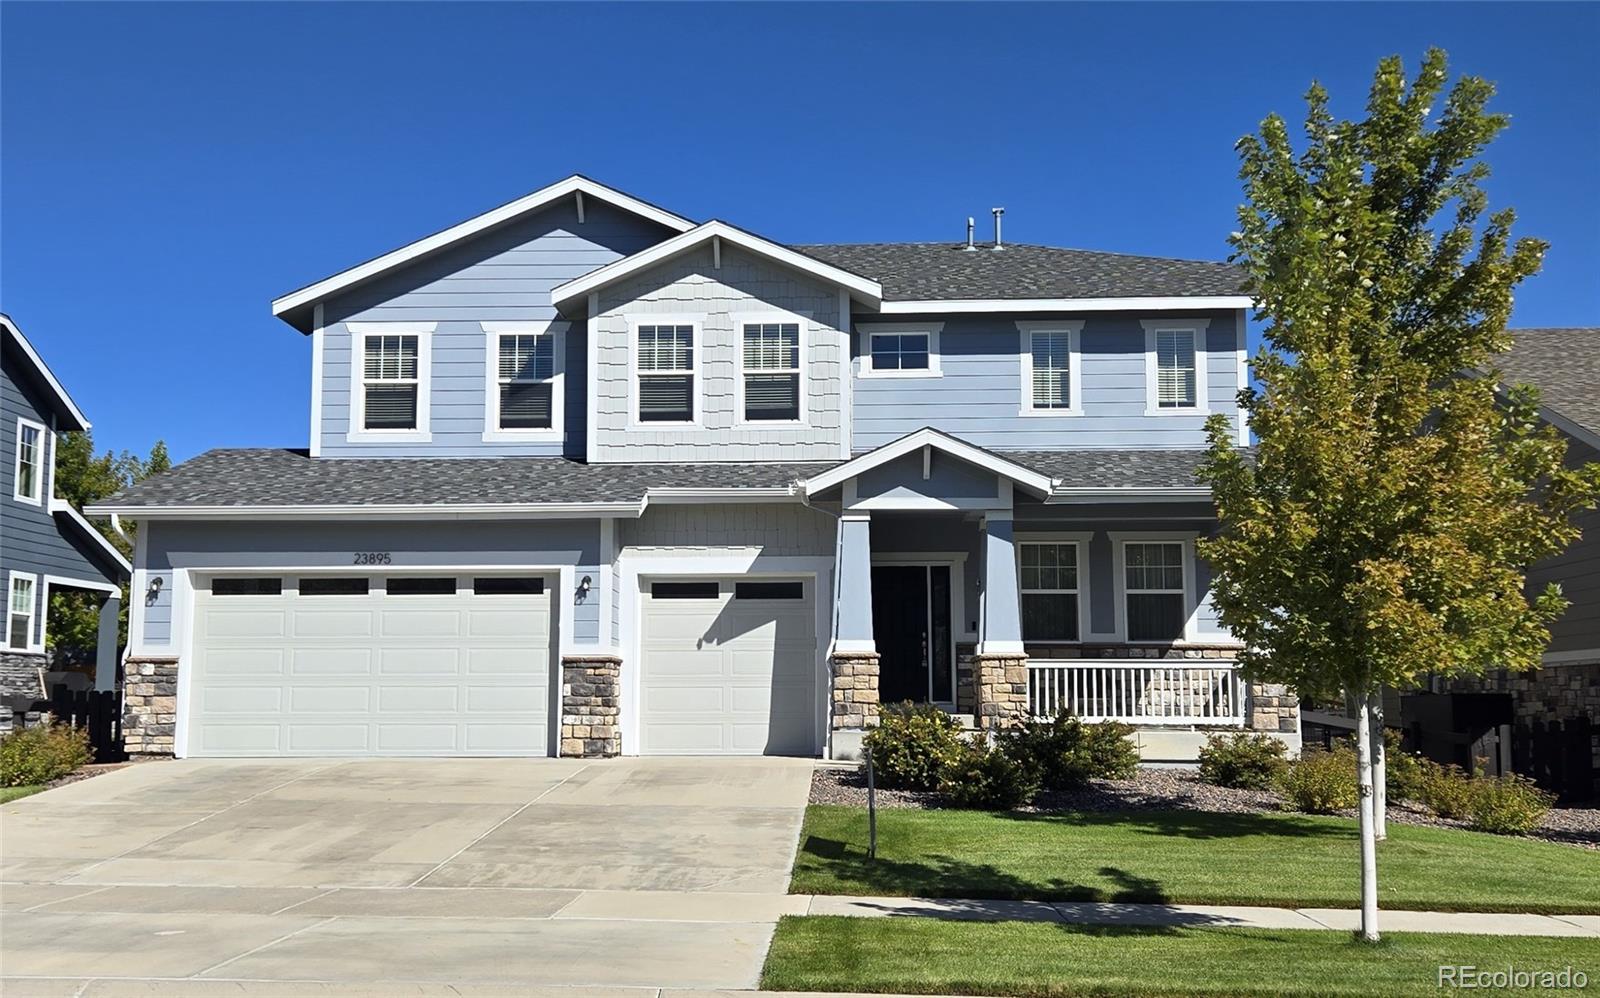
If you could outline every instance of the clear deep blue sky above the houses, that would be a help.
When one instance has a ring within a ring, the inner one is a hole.
[[[1222,259],[1234,141],[1427,45],[1499,85],[1520,325],[1600,325],[1594,3],[0,3],[0,307],[106,448],[304,446],[267,302],[579,171],[781,242]]]

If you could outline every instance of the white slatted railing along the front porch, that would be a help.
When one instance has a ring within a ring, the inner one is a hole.
[[[1083,721],[1128,725],[1245,723],[1245,685],[1232,665],[1030,659],[1027,704],[1035,718],[1061,710]]]

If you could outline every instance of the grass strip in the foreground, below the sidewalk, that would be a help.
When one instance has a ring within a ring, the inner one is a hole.
[[[787,916],[762,988],[942,995],[1438,995],[1440,966],[1584,971],[1592,939],[1306,929],[1134,929]],[[1530,990],[1518,990],[1530,993]],[[1542,992],[1536,992],[1542,993]]]

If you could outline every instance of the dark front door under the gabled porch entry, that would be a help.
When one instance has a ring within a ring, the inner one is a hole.
[[[878,699],[949,702],[950,568],[878,565],[872,569],[872,638],[878,648]]]

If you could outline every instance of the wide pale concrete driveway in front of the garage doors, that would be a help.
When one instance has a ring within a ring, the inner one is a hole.
[[[131,766],[0,808],[0,990],[749,988],[778,916],[803,910],[784,891],[810,777],[805,760]]]

